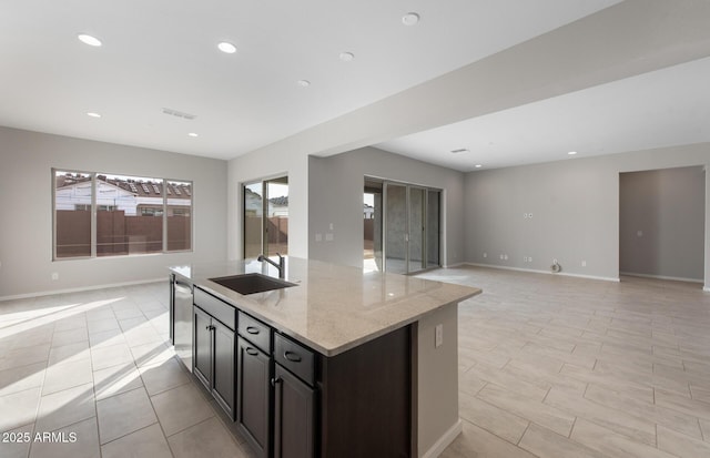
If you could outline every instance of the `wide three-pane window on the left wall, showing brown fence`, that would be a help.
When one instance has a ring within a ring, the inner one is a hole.
[[[52,172],[54,259],[192,250],[191,182]]]

